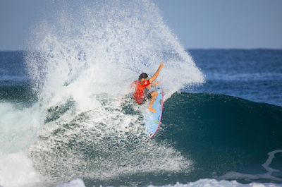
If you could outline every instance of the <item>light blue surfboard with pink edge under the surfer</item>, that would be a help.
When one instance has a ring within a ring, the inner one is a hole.
[[[147,137],[150,139],[157,132],[159,128],[159,124],[161,123],[161,114],[163,113],[163,91],[161,90],[161,84],[152,86],[149,92],[156,90],[158,92],[158,96],[152,105],[152,108],[157,112],[153,113],[148,109],[145,111],[145,132]],[[149,104],[147,104],[149,106]]]

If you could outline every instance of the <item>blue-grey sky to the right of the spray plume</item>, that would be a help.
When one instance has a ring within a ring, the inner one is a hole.
[[[282,49],[282,1],[154,1],[186,48]]]

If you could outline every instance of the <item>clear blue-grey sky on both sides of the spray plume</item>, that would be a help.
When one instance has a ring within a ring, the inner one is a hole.
[[[0,0],[0,51],[26,49],[46,1]],[[282,49],[281,0],[151,1],[185,49]]]

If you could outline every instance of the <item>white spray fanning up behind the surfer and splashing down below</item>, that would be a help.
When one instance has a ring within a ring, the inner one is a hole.
[[[130,99],[118,102],[137,80],[130,69],[152,75],[162,61],[158,80],[165,99],[184,86],[204,83],[154,4],[73,2],[53,20],[39,23],[33,39],[26,61],[41,129],[28,156],[45,181],[192,169],[170,145],[147,140],[140,107]]]

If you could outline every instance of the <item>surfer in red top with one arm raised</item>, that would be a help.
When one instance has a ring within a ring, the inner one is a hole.
[[[135,100],[135,102],[137,104],[144,104],[145,102],[147,102],[147,100],[150,100],[148,109],[153,113],[156,113],[156,110],[152,108],[152,105],[154,104],[154,101],[158,96],[158,92],[149,92],[149,89],[152,86],[159,85],[159,82],[153,82],[159,76],[159,72],[163,67],[164,62],[159,65],[158,70],[156,71],[156,73],[154,73],[154,76],[152,76],[152,78],[149,78],[149,80],[147,73],[141,73],[138,80],[135,80],[133,83],[130,84],[130,88],[133,88],[133,99]]]

